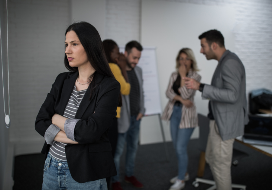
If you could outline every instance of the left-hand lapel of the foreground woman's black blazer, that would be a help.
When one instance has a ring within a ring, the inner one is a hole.
[[[74,88],[76,78],[78,76],[78,71],[71,74],[69,77],[64,80],[62,93],[60,97],[60,114],[63,116],[64,110],[66,108],[67,102],[71,96],[72,90]]]

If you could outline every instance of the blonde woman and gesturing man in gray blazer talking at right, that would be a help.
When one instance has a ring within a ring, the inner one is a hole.
[[[222,33],[209,30],[199,36],[201,50],[206,59],[215,59],[218,65],[211,85],[200,83],[193,51],[181,49],[176,58],[176,71],[172,73],[166,95],[169,99],[162,119],[170,120],[173,145],[178,159],[178,175],[170,179],[169,190],[180,190],[189,180],[187,172],[187,144],[193,128],[198,126],[196,90],[209,100],[210,131],[205,159],[209,163],[216,189],[231,190],[231,164],[234,139],[244,134],[248,123],[245,93],[244,65],[235,53],[225,49]]]

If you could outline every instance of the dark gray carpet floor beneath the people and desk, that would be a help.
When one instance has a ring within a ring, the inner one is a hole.
[[[167,143],[170,162],[166,161],[164,145],[148,144],[139,146],[136,157],[135,176],[148,190],[167,190],[169,179],[177,175],[177,159],[172,143]],[[186,182],[185,190],[204,190],[210,185],[199,183],[192,185],[196,177],[199,150],[198,140],[190,140],[188,145],[190,180]],[[247,190],[271,190],[272,158],[249,147],[235,142],[234,147],[249,154],[239,161],[238,166],[232,166],[232,182],[247,185]],[[15,157],[14,190],[41,189],[43,182],[44,154],[31,154]],[[135,190],[131,184],[124,182],[125,156],[121,157],[121,185],[124,190]],[[213,179],[209,166],[206,165],[204,179]]]

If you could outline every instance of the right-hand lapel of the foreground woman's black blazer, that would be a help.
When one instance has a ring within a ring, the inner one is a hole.
[[[103,75],[100,75],[98,73],[96,73],[96,83],[99,85],[99,83],[103,80]],[[81,100],[81,103],[77,109],[76,112],[76,119],[81,119],[81,117],[83,116],[84,112],[86,111],[87,107],[89,106],[89,104],[91,103],[92,99],[95,97],[97,90],[98,90],[98,86],[96,86],[96,88],[94,89],[94,91],[92,92],[92,97],[90,98],[90,88],[91,86],[88,87],[88,89],[86,90],[85,95],[83,96],[83,99]]]

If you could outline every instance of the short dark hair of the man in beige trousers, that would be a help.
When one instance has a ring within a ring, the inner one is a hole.
[[[224,36],[218,30],[209,30],[198,36],[198,39],[206,38],[207,43],[211,45],[213,42],[217,43],[220,47],[225,47]]]

